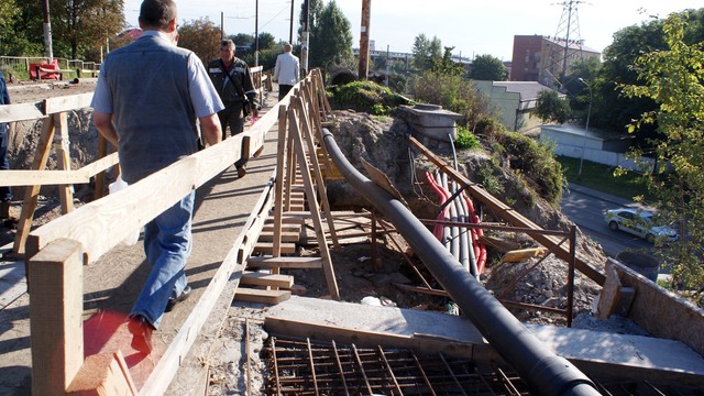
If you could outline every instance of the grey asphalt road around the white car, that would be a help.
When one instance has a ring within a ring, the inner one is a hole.
[[[651,250],[645,240],[623,231],[612,231],[606,227],[604,213],[607,209],[639,208],[639,204],[570,184],[562,195],[562,212],[585,234],[600,243],[608,256],[615,256],[626,249]]]

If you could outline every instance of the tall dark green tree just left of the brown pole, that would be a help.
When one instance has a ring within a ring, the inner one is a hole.
[[[318,13],[317,10],[320,6],[317,0],[310,1],[309,68],[327,68],[332,65],[351,66],[354,55],[352,53],[350,21],[344,16],[334,0],[321,8]]]

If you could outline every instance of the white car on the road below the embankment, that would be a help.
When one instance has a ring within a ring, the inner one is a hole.
[[[645,238],[650,243],[675,242],[680,239],[676,231],[667,226],[656,226],[652,218],[653,213],[647,210],[623,208],[607,210],[604,220],[613,231],[622,230]]]

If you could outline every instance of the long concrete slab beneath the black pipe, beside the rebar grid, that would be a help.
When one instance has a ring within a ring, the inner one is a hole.
[[[442,312],[294,296],[268,307],[264,315],[336,327],[351,333],[370,331],[487,345],[471,321]],[[704,386],[704,359],[680,341],[552,326],[528,324],[527,329],[554,353],[596,378],[667,381]]]

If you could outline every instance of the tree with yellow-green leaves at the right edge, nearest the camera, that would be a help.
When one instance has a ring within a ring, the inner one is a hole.
[[[639,56],[634,69],[642,85],[619,85],[628,98],[648,98],[658,103],[646,111],[630,131],[656,124],[664,140],[652,142],[661,166],[644,177],[658,198],[661,217],[676,220],[681,241],[657,253],[673,267],[672,285],[704,296],[704,51],[702,44],[684,42],[686,22],[670,14],[664,21],[666,50]],[[634,157],[642,154],[631,152]]]

